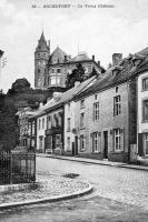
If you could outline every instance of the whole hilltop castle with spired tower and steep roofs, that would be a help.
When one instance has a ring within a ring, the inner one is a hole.
[[[78,63],[85,68],[83,80],[90,75],[93,69],[98,74],[105,72],[100,62],[95,61],[95,56],[90,59],[86,52],[79,52],[77,57],[71,58],[57,47],[50,53],[50,41],[47,44],[42,32],[34,52],[34,87],[39,89],[66,89],[67,74],[71,74]]]

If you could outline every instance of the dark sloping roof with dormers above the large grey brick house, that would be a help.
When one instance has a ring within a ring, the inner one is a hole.
[[[134,56],[135,57],[135,56]],[[132,58],[134,58],[132,57]],[[98,91],[103,91],[110,87],[128,81],[130,78],[148,69],[148,57],[140,58],[139,64],[134,64],[131,60],[124,59],[120,63],[122,69],[118,69],[117,74],[112,73],[112,67],[109,68],[101,78],[85,89],[82,92],[78,93],[75,99],[79,100],[81,97],[87,97],[89,94],[96,93]]]

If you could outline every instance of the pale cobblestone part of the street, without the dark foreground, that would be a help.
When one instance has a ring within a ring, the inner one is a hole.
[[[97,194],[124,203],[136,204],[148,210],[148,172],[38,158],[40,170],[50,169],[57,173],[79,173],[96,189]],[[60,168],[59,168],[60,165]],[[49,171],[50,171],[49,170]]]

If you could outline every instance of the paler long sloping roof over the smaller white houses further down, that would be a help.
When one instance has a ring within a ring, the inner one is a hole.
[[[37,118],[40,115],[46,114],[47,111],[55,110],[56,108],[59,108],[63,105],[65,103],[68,103],[72,98],[81,92],[83,89],[86,89],[88,85],[91,85],[96,81],[96,77],[91,77],[90,79],[79,83],[77,87],[71,88],[70,90],[63,92],[60,98],[57,100],[51,99],[48,103],[46,103],[42,108],[40,108],[38,111],[34,112],[34,114],[31,118]]]

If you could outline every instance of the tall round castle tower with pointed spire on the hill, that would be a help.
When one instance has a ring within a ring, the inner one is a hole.
[[[43,31],[34,51],[34,88],[45,88],[45,71],[50,57],[50,41],[47,44]]]

